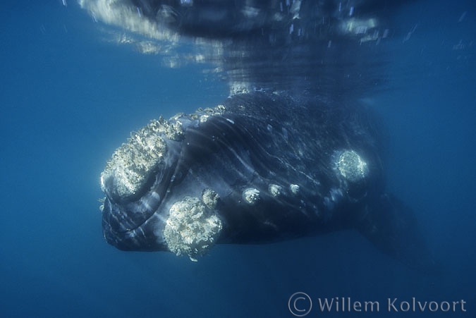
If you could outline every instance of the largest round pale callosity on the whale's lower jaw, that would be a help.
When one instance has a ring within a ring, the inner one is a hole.
[[[184,197],[169,210],[164,238],[171,252],[188,255],[194,262],[207,254],[222,228],[221,220],[197,197]]]

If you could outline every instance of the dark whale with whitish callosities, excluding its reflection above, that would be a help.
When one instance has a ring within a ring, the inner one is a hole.
[[[429,255],[413,212],[383,190],[379,135],[363,106],[279,92],[159,118],[102,173],[104,237],[195,260],[214,244],[355,229],[418,267]]]

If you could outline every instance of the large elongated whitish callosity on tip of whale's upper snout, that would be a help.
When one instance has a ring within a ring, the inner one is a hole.
[[[106,190],[106,183],[109,185],[107,181],[114,178],[111,184],[120,197],[134,195],[163,161],[167,147],[156,122],[151,121],[137,133],[132,133],[128,141],[116,149],[101,173],[103,191]]]

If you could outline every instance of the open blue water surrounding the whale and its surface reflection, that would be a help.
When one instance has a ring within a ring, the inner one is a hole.
[[[393,90],[368,97],[389,128],[389,190],[417,212],[441,263],[427,275],[358,233],[218,245],[199,262],[121,252],[102,238],[99,174],[131,130],[213,106],[225,82],[102,42],[73,1],[0,4],[0,317],[476,317],[476,8],[435,1],[399,13],[412,37],[393,54]],[[466,12],[462,21],[458,19]],[[409,71],[406,72],[405,69]],[[379,301],[376,312],[318,299]],[[465,300],[466,312],[386,312]]]

